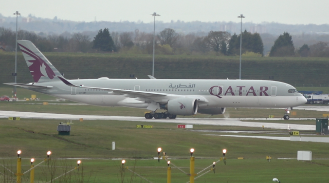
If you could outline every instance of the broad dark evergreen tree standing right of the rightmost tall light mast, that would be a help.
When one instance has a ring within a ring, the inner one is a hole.
[[[269,56],[294,56],[295,47],[293,39],[288,32],[284,32],[275,40],[274,45],[271,48]]]

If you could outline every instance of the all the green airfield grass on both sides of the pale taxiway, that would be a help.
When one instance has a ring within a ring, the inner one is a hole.
[[[10,93],[11,87],[0,87],[0,92]],[[306,88],[306,90],[317,90]],[[49,105],[42,105],[43,101],[19,101],[0,102],[0,110],[47,112],[65,114],[89,114],[89,115],[130,115],[143,116],[145,110],[122,107],[96,107],[88,105],[50,105],[65,104],[70,101],[56,102],[54,97],[31,92],[24,89],[17,90],[19,97],[29,98],[36,94]],[[296,118],[322,117],[318,111],[296,110]],[[275,115],[282,117],[284,110],[280,109],[233,109],[228,108],[226,117],[232,118],[258,118]],[[223,115],[207,116],[196,115],[193,117],[223,117]],[[202,120],[202,119],[200,119]],[[249,120],[248,120],[249,121]],[[251,120],[252,121],[252,120]],[[271,182],[272,178],[278,178],[282,182],[326,182],[329,160],[327,152],[329,146],[324,143],[309,143],[299,141],[268,140],[258,138],[239,138],[226,136],[209,136],[214,132],[195,132],[191,130],[177,129],[177,124],[147,123],[116,120],[73,120],[70,136],[58,135],[57,126],[63,120],[49,119],[24,119],[17,121],[0,119],[0,164],[12,171],[16,170],[16,152],[22,150],[21,157],[23,172],[30,166],[29,159],[37,158],[38,164],[46,157],[46,152],[52,152],[50,167],[47,164],[35,169],[35,182],[46,182],[50,175],[59,176],[63,172],[76,166],[77,159],[82,158],[80,172],[72,172],[66,180],[57,182],[146,182],[133,176],[125,169],[124,181],[121,181],[121,159],[127,160],[125,166],[130,170],[147,178],[151,182],[167,181],[167,164],[164,160],[158,163],[157,148],[161,147],[167,152],[171,162],[189,172],[189,149],[194,148],[195,172],[199,172],[210,166],[213,161],[222,157],[222,149],[227,149],[227,165],[222,161],[216,165],[215,174],[209,172],[198,178],[195,182]],[[268,122],[258,121],[258,122]],[[273,121],[269,121],[273,123]],[[314,120],[289,120],[289,124],[315,125]],[[278,120],[275,123],[287,123],[287,120]],[[152,129],[137,129],[136,125],[153,125]],[[241,133],[241,135],[281,136],[267,132],[286,132],[277,129],[261,129],[251,127],[233,126],[208,126],[193,125],[193,130],[218,130],[218,131],[263,131],[264,134]],[[216,132],[215,134],[233,135],[233,133]],[[314,132],[301,131],[302,135],[314,134]],[[236,134],[234,134],[236,135]],[[116,142],[116,149],[112,150],[112,141]],[[312,161],[298,161],[297,151],[312,151]],[[266,156],[272,157],[267,162]],[[244,157],[245,159],[237,159]],[[64,158],[64,159],[63,159]],[[278,159],[288,158],[288,159]],[[292,159],[290,159],[292,158]],[[82,170],[83,167],[83,170]],[[172,167],[172,182],[188,182],[189,177]],[[0,167],[0,172],[5,169]],[[8,172],[6,172],[8,174]],[[1,174],[1,173],[0,173]],[[9,182],[0,175],[1,182]],[[83,181],[81,179],[83,178]],[[29,175],[23,176],[24,182],[29,182]]]

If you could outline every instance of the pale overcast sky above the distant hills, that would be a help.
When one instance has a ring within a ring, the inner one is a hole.
[[[15,16],[32,14],[36,17],[53,18],[79,22],[130,21],[202,21],[243,22],[255,24],[276,22],[283,24],[329,24],[328,0],[0,0],[0,13]]]

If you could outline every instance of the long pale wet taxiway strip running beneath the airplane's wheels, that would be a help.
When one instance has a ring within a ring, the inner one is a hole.
[[[175,123],[175,124],[191,124],[191,125],[214,125],[214,126],[242,126],[242,127],[256,127],[272,128],[272,129],[288,129],[291,130],[308,130],[315,131],[315,125],[296,125],[289,124],[289,120],[305,120],[306,118],[290,118],[286,120],[287,123],[258,123],[245,122],[237,118],[176,118],[176,119],[145,119],[144,117],[132,116],[98,116],[98,115],[74,115],[74,114],[53,114],[53,113],[36,113],[36,112],[16,112],[16,111],[0,111],[0,118],[21,117],[21,118],[35,118],[35,119],[61,119],[61,120],[124,120],[124,121],[140,121],[153,123]],[[280,118],[252,118],[250,120],[268,120],[275,121]],[[314,119],[315,120],[315,119]],[[141,124],[142,125],[142,124]]]

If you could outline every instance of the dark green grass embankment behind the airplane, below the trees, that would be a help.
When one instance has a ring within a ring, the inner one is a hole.
[[[148,78],[152,73],[152,55],[97,53],[44,53],[68,79]],[[14,53],[0,53],[0,83],[13,81]],[[21,53],[17,54],[17,82],[30,83],[32,78]],[[238,56],[156,55],[156,78],[237,79]],[[11,69],[12,68],[12,69]],[[243,79],[268,79],[294,86],[328,86],[329,58],[244,57]]]

